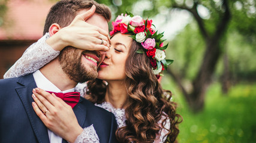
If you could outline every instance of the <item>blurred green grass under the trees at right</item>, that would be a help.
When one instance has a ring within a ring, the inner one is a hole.
[[[224,95],[221,86],[213,83],[207,91],[204,110],[193,114],[177,87],[163,83],[165,89],[173,92],[177,113],[183,117],[179,142],[256,142],[256,84],[240,83]]]

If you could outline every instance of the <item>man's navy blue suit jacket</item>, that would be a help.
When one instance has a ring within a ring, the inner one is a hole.
[[[32,74],[0,80],[1,143],[50,142],[46,126],[32,108],[32,89],[36,87]],[[116,142],[117,125],[112,113],[82,97],[73,111],[82,128],[94,125],[101,143]]]

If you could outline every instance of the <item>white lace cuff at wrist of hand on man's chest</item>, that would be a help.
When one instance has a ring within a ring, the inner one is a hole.
[[[91,125],[83,129],[83,132],[77,136],[74,143],[100,143],[100,139],[98,138],[94,126]]]

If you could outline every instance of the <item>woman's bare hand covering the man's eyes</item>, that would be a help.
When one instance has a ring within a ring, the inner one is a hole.
[[[77,15],[69,26],[60,29],[46,42],[56,51],[61,51],[65,46],[90,51],[109,51],[109,33],[100,27],[86,23],[86,20],[94,15],[95,9],[93,5],[90,10]]]

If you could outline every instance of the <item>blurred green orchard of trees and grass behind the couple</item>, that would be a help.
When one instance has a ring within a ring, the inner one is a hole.
[[[164,32],[174,63],[161,83],[183,117],[179,142],[256,142],[255,0],[97,2],[113,18],[128,11]]]

